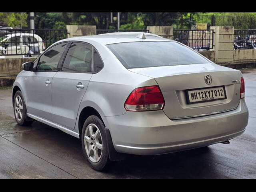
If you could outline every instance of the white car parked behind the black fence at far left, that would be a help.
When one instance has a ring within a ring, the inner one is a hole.
[[[40,55],[45,49],[42,38],[32,33],[7,34],[0,41],[0,57],[1,55]]]

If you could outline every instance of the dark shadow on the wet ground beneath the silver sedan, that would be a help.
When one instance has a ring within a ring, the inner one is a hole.
[[[28,135],[22,135],[23,140],[30,142],[28,148],[38,148],[36,145],[40,145],[40,150],[46,150],[41,152],[46,158],[50,156],[47,153],[57,153],[60,161],[68,161],[66,163],[70,163],[70,167],[79,164],[86,167],[80,171],[91,169],[82,154],[79,139],[40,122],[34,122],[34,126],[41,129],[32,130],[32,126]],[[214,159],[216,154],[210,146],[158,156],[127,155],[125,160],[111,162],[102,174],[111,178],[214,178]],[[50,159],[47,160],[50,162]]]

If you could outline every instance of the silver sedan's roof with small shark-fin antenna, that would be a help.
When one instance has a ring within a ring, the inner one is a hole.
[[[145,38],[141,38],[144,35]],[[99,34],[99,35],[92,35],[92,36],[79,36],[79,37],[72,37],[65,40],[78,40],[84,41],[90,40],[94,42],[98,42],[103,45],[107,44],[115,44],[115,43],[122,43],[122,42],[141,42],[141,41],[173,41],[170,39],[162,38],[156,34],[151,33],[142,33],[142,32],[115,32],[115,33],[106,33],[106,34]],[[62,40],[64,41],[64,40]]]

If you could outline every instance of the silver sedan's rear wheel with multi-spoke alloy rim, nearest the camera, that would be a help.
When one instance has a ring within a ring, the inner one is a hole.
[[[110,163],[108,144],[105,126],[98,116],[89,116],[84,122],[81,142],[84,156],[91,167],[97,171],[105,170]]]

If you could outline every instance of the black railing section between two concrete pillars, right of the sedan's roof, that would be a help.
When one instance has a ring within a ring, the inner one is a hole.
[[[173,39],[197,51],[213,48],[213,30],[173,30]]]

